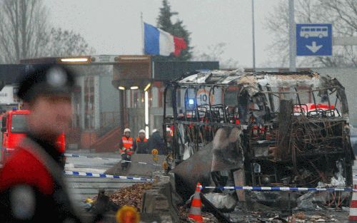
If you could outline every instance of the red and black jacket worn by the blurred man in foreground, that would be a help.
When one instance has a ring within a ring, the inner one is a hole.
[[[63,169],[30,138],[24,138],[0,170],[0,219],[81,222],[66,191]]]

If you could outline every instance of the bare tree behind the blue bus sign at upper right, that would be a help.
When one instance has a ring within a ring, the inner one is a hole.
[[[331,23],[333,36],[353,36],[357,32],[356,0],[296,0],[296,23]],[[266,18],[266,28],[274,41],[268,46],[272,66],[288,65],[288,1],[281,1]],[[298,57],[298,66],[356,66],[356,46],[334,46],[333,56]]]

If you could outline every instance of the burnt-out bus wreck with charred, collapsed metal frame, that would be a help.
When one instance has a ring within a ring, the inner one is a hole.
[[[277,187],[353,183],[348,103],[336,78],[311,71],[201,72],[169,83],[164,100],[174,172],[190,191],[198,181]]]

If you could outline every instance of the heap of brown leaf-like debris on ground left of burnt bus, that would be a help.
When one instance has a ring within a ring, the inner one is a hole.
[[[153,183],[151,182],[131,185],[111,193],[109,198],[120,206],[132,205],[140,211],[143,194],[146,190],[151,190],[152,187]]]

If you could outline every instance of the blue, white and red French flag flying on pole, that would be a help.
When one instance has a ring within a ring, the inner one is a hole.
[[[145,54],[170,56],[174,53],[179,56],[181,50],[187,48],[183,38],[172,36],[170,33],[144,23],[144,50]]]

